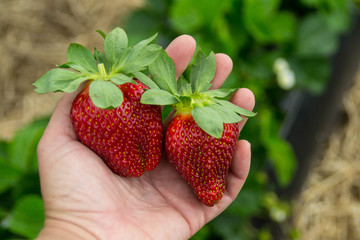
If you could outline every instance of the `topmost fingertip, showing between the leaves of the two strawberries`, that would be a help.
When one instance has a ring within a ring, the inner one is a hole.
[[[195,39],[189,35],[181,35],[175,38],[166,48],[167,54],[172,58],[176,68],[176,79],[189,65],[196,49]]]

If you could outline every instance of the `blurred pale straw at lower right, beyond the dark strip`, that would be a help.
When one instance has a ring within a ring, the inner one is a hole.
[[[295,208],[301,239],[360,239],[360,71],[343,100],[348,121],[334,131]]]

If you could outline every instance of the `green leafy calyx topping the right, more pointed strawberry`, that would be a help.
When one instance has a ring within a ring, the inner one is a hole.
[[[191,113],[195,122],[209,135],[220,138],[224,123],[237,123],[242,116],[256,113],[240,108],[228,100],[237,89],[209,90],[215,76],[215,54],[206,56],[199,51],[190,69],[190,81],[184,77],[176,81],[175,64],[164,50],[149,65],[149,72],[156,88],[147,90],[141,102],[154,105],[171,105],[175,114]]]

